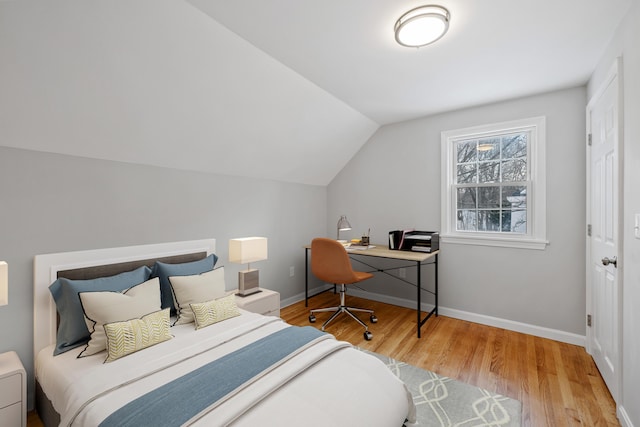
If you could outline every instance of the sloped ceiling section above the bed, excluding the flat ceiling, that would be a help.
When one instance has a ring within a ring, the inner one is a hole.
[[[378,125],[182,0],[0,2],[0,145],[326,185]]]

